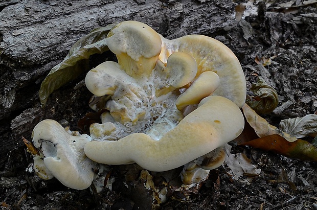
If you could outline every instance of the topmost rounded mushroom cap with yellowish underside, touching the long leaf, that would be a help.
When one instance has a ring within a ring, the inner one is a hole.
[[[131,77],[149,76],[161,53],[161,37],[138,21],[124,21],[107,35],[107,45]]]

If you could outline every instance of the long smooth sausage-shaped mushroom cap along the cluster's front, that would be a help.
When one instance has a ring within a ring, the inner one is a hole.
[[[88,142],[84,151],[102,164],[136,162],[150,171],[167,171],[232,141],[243,127],[244,119],[236,104],[210,96],[159,141],[145,133],[132,133],[118,141]]]

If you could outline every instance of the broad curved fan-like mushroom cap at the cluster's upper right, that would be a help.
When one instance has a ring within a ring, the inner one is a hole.
[[[212,71],[219,76],[219,87],[213,95],[230,99],[242,107],[246,97],[246,83],[241,65],[234,53],[220,41],[203,35],[187,35],[177,39],[162,39],[160,60],[175,52],[185,52],[197,62],[197,76]]]

